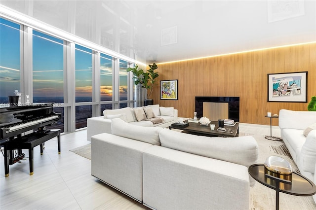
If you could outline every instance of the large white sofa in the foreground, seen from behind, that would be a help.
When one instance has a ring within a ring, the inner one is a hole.
[[[219,138],[112,119],[91,137],[91,175],[151,209],[249,209],[253,137]]]

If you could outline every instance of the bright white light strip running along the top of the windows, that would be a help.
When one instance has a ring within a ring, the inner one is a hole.
[[[0,4],[0,16],[3,16],[4,18],[10,19],[12,21],[15,21],[17,23],[21,23],[23,25],[26,25],[28,27],[31,27],[35,30],[39,30],[41,32],[47,33],[48,35],[55,36],[57,38],[64,39],[69,42],[75,42],[79,45],[83,45],[87,48],[90,48],[92,50],[110,55],[112,57],[116,57],[118,59],[122,59],[124,61],[130,62],[130,63],[136,63],[136,61],[132,58],[129,58],[125,55],[119,54],[115,51],[112,51],[110,49],[107,49],[105,47],[102,47],[98,44],[95,44],[91,41],[85,40],[80,38],[79,36],[73,35],[71,33],[65,32],[63,30],[60,30],[56,27],[50,26],[46,23],[43,23],[35,18],[32,18],[30,16],[27,16],[23,13],[14,11],[6,6],[3,6]]]

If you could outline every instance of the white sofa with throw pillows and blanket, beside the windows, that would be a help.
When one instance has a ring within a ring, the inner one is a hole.
[[[159,105],[105,109],[103,116],[87,119],[87,140],[90,141],[91,137],[96,134],[111,134],[113,118],[121,118],[133,125],[167,128],[178,121],[178,110]]]

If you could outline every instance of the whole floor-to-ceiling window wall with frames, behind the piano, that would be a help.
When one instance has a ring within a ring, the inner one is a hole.
[[[51,128],[64,132],[86,127],[86,119],[104,109],[132,105],[126,72],[131,63],[57,34],[0,20],[1,104],[14,90],[25,92],[22,99],[30,94],[33,103],[54,103],[54,112],[63,117]]]

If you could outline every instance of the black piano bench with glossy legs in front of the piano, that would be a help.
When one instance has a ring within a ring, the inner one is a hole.
[[[10,150],[14,149],[29,149],[29,162],[30,162],[30,175],[34,173],[33,165],[33,148],[40,145],[40,154],[43,154],[43,143],[54,137],[57,137],[58,143],[58,154],[60,154],[60,129],[51,129],[49,132],[35,132],[23,136],[22,138],[16,138],[14,140],[8,141],[3,145],[4,149],[4,171],[5,176],[9,175],[9,165],[13,163],[9,162]]]

